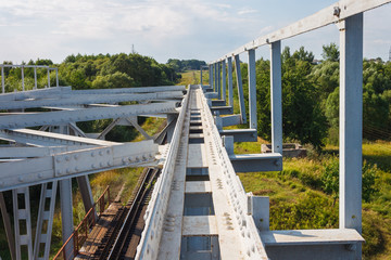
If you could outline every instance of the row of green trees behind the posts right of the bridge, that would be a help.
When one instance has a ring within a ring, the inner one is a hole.
[[[286,141],[300,141],[321,148],[338,144],[339,50],[335,43],[323,47],[323,62],[304,47],[281,53],[282,130]],[[241,64],[242,75],[248,65]],[[244,93],[248,79],[243,77]],[[270,62],[256,61],[258,136],[270,140]],[[245,96],[248,102],[248,96]],[[390,140],[391,63],[381,58],[363,61],[363,136]]]

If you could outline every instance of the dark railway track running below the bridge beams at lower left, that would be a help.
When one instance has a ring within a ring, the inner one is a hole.
[[[157,168],[143,170],[135,190],[137,192],[127,205],[118,210],[113,219],[112,227],[103,238],[103,245],[94,252],[92,259],[134,259],[144,224],[142,216],[159,173]]]

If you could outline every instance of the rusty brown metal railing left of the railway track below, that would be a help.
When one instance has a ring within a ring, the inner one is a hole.
[[[93,204],[92,208],[88,210],[88,212],[86,213],[81,222],[77,225],[75,231],[72,233],[70,238],[67,238],[63,246],[60,248],[53,260],[74,259],[79,253],[80,248],[88,238],[88,234],[92,231],[100,216],[104,212],[105,206],[108,205],[109,207],[110,202],[110,188],[109,186],[106,186],[102,195]],[[98,209],[96,208],[97,206]],[[67,247],[70,243],[73,244],[73,247]]]

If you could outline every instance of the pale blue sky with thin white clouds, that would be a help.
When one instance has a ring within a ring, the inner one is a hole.
[[[137,53],[213,61],[320,9],[330,0],[0,0],[0,63],[70,54]],[[364,15],[364,56],[389,58],[391,4]],[[283,40],[316,58],[339,43],[336,25]],[[268,47],[256,50],[268,58]]]

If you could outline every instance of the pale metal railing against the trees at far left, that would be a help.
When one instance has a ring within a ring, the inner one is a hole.
[[[13,65],[13,64],[0,64],[1,67],[1,90],[2,93],[5,93],[5,74],[4,68],[21,68],[21,76],[22,76],[22,91],[25,91],[25,68],[34,68],[34,89],[38,89],[38,80],[37,80],[37,68],[47,69],[47,79],[48,84],[46,88],[50,88],[50,72],[55,72],[55,86],[59,87],[59,68],[43,66],[43,65]]]

